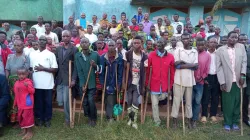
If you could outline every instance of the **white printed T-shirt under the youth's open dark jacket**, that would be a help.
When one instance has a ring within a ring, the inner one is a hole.
[[[132,66],[132,84],[138,85],[140,80],[140,64],[141,64],[141,55],[137,55],[133,51],[133,66]]]

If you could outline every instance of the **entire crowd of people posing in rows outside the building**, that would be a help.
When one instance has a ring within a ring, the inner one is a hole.
[[[220,28],[212,24],[212,16],[206,18],[205,25],[200,20],[193,28],[189,18],[184,25],[178,14],[173,15],[173,23],[164,17],[154,24],[148,13],[142,14],[140,7],[131,25],[124,12],[118,22],[114,15],[109,22],[106,13],[99,23],[96,15],[92,23],[85,18],[83,13],[74,22],[70,16],[69,24],[62,29],[56,21],[52,21],[53,28],[49,23],[43,24],[43,17],[39,16],[38,24],[30,32],[25,22],[21,22],[22,30],[11,37],[5,32],[8,30],[0,31],[1,134],[8,123],[7,116],[10,117],[8,112],[14,110],[18,110],[18,119],[13,120],[11,115],[11,120],[19,123],[24,139],[33,136],[34,125],[50,127],[54,88],[58,105],[64,107],[66,125],[70,124],[69,88],[75,88],[73,92],[80,97],[85,93],[84,116],[92,127],[97,121],[95,97],[105,90],[106,118],[111,123],[115,120],[113,108],[118,102],[117,93],[127,89],[124,100],[128,125],[135,129],[138,129],[142,103],[139,99],[150,91],[156,126],[161,124],[159,102],[166,98],[173,97],[173,128],[178,127],[180,104],[185,100],[185,117],[192,129],[200,119],[200,109],[203,123],[208,118],[217,122],[221,97],[226,131],[240,129],[243,88],[243,117],[250,126],[250,90],[246,87],[250,83],[249,40],[239,28],[222,37]],[[72,69],[69,69],[70,62]]]

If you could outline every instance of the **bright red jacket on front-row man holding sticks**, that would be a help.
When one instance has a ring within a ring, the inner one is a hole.
[[[157,50],[151,52],[148,56],[148,69],[146,77],[146,86],[150,84],[150,90],[153,92],[168,92],[168,73],[170,69],[170,88],[174,83],[175,65],[174,56],[165,53],[163,57],[158,56]],[[149,81],[150,67],[152,67],[151,82]]]

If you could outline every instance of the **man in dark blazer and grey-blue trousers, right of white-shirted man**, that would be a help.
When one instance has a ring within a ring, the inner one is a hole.
[[[68,30],[62,32],[63,46],[56,49],[56,60],[58,63],[57,73],[57,102],[64,108],[65,124],[70,124],[69,115],[69,87],[76,83],[77,71],[74,68],[74,56],[78,52],[77,48],[70,42],[71,33]],[[72,61],[72,80],[69,81],[69,61]]]

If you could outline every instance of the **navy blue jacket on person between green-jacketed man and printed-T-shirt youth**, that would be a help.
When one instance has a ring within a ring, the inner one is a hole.
[[[123,76],[123,59],[122,55],[116,52],[115,60],[110,63],[108,60],[108,53],[101,56],[100,60],[101,73],[99,75],[100,83],[104,85],[106,66],[108,66],[107,80],[106,80],[106,93],[115,94],[116,91],[116,71],[117,71],[117,83],[118,88],[122,85]],[[117,67],[117,68],[116,68]]]

